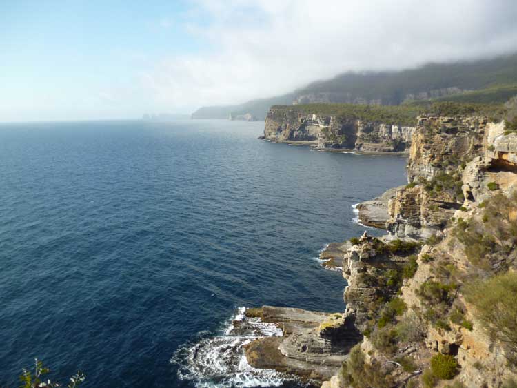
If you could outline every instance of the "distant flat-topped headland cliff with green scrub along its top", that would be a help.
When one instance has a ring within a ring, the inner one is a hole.
[[[263,139],[305,142],[321,150],[343,148],[363,152],[399,152],[412,141],[414,110],[354,105],[325,108],[275,106],[265,119]]]

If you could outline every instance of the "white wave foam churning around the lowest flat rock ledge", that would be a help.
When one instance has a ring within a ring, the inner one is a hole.
[[[260,318],[246,318],[239,307],[219,335],[201,336],[180,347],[170,362],[178,365],[178,376],[196,387],[278,387],[296,379],[270,369],[256,369],[247,363],[245,345],[256,338],[282,336],[282,330]]]

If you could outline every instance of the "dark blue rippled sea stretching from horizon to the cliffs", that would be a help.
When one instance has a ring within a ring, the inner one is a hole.
[[[403,184],[406,160],[261,132],[0,125],[0,386],[34,357],[63,381],[81,369],[84,387],[296,385],[225,360],[231,320],[265,304],[343,311],[345,280],[318,251],[363,232],[352,205]]]

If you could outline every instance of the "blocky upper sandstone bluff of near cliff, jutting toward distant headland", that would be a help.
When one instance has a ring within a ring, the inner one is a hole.
[[[409,149],[407,178],[418,187],[399,190],[389,201],[386,228],[397,237],[429,238],[441,234],[463,204],[458,165],[483,154],[485,133],[494,124],[486,117],[423,115]],[[477,171],[477,170],[476,170]]]

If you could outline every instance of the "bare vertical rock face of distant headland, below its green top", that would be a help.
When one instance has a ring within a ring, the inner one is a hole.
[[[405,150],[411,143],[414,130],[403,125],[271,108],[265,119],[263,138],[279,142],[306,141],[319,149],[396,152]]]

